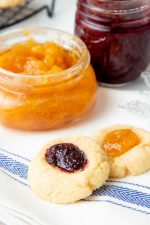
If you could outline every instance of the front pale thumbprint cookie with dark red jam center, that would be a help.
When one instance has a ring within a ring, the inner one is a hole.
[[[73,203],[90,196],[108,179],[105,151],[86,136],[50,141],[31,162],[28,180],[33,192],[53,203]]]

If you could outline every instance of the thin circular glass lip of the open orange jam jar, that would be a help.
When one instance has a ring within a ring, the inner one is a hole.
[[[83,61],[87,61],[86,65],[85,65],[85,68],[84,70],[86,70],[86,68],[88,67],[88,64],[90,63],[90,54],[89,54],[89,51],[86,47],[86,45],[84,44],[84,42],[78,38],[77,36],[75,35],[72,35],[72,34],[69,34],[68,32],[65,32],[65,31],[62,31],[62,30],[59,30],[59,29],[54,29],[54,28],[49,28],[49,27],[28,27],[28,28],[18,28],[18,29],[15,29],[15,30],[12,30],[12,31],[6,31],[6,32],[3,32],[2,34],[0,34],[0,42],[2,41],[6,41],[6,37],[10,37],[13,36],[15,37],[17,34],[20,34],[20,35],[25,35],[26,32],[27,33],[32,33],[33,31],[45,31],[45,32],[53,32],[53,33],[57,33],[58,35],[66,35],[68,36],[68,38],[70,38],[70,40],[74,41],[74,43],[76,43],[78,46],[80,46],[80,48],[82,49],[82,55],[80,56],[79,60],[77,61],[77,63],[75,65],[73,65],[72,67],[69,67],[68,69],[66,70],[63,70],[61,72],[58,72],[58,73],[53,73],[53,74],[43,74],[43,75],[26,75],[26,74],[19,74],[19,73],[14,73],[14,72],[11,72],[11,71],[8,71],[6,69],[3,69],[0,67],[0,73],[3,73],[4,75],[8,76],[8,77],[12,77],[12,78],[29,78],[29,79],[39,79],[39,78],[57,78],[57,77],[63,77],[64,76],[64,73],[65,73],[65,77],[67,79],[67,74],[72,74],[72,77],[73,75],[76,73],[76,70],[77,68],[80,68],[80,67],[83,67]]]

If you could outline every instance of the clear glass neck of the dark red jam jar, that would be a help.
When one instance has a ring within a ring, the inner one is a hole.
[[[99,21],[133,21],[150,16],[149,0],[78,0],[78,10]]]

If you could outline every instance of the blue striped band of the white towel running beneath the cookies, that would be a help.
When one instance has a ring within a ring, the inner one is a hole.
[[[14,182],[28,187],[30,160],[0,149],[0,170]],[[135,178],[108,180],[85,201],[105,202],[143,214],[150,214],[150,173]],[[134,181],[135,180],[135,181]]]

